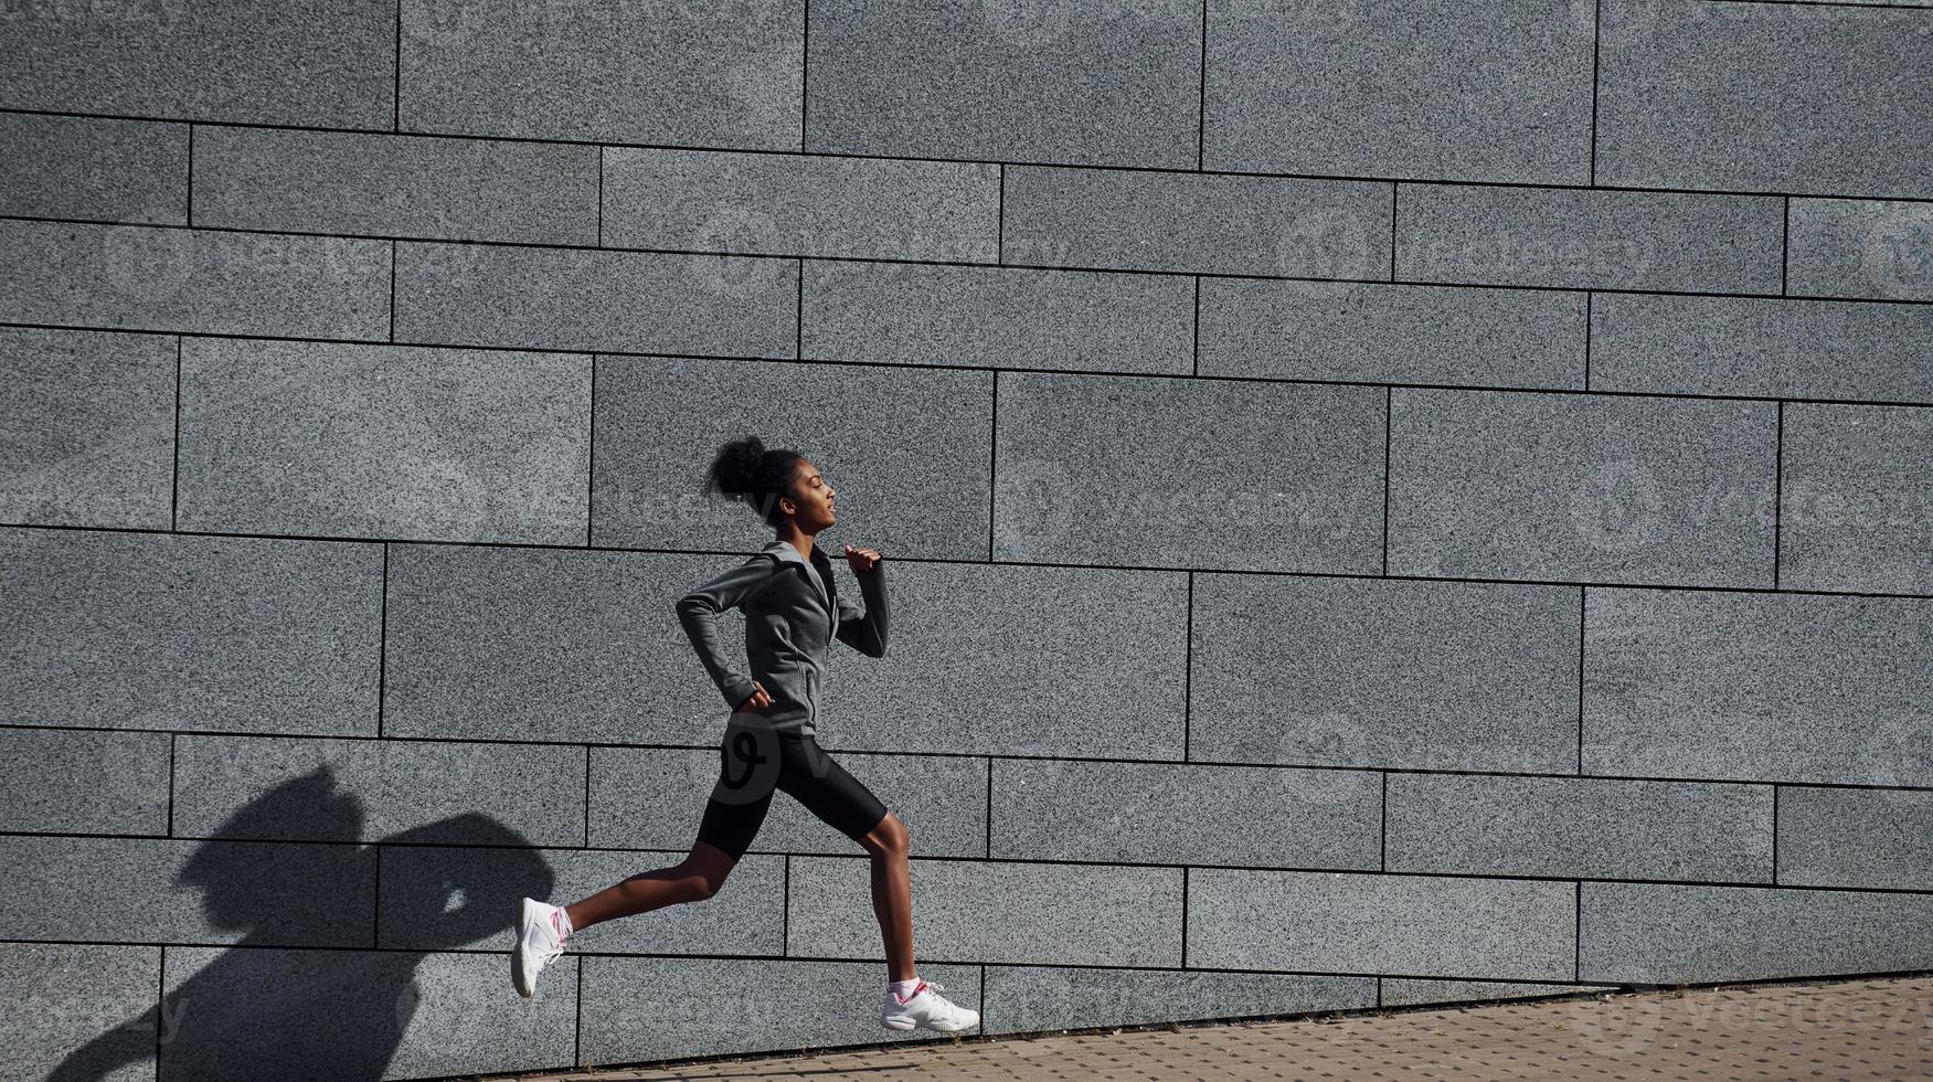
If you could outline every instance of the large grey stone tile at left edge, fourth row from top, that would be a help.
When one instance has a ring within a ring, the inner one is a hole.
[[[0,328],[0,518],[168,529],[176,340]]]

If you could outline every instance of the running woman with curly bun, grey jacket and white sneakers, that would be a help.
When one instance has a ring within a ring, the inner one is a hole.
[[[872,906],[885,939],[887,993],[880,1024],[889,1030],[959,1032],[980,1012],[939,995],[912,966],[912,877],[909,837],[897,815],[818,744],[818,690],[831,640],[870,657],[885,655],[885,570],[874,549],[845,547],[862,603],[839,595],[831,560],[814,537],[835,522],[833,497],[818,468],[791,450],[767,450],[758,437],[727,442],[706,475],[707,493],[752,504],[775,537],[742,564],[678,599],[700,663],[733,715],[719,742],[719,779],[706,800],[690,854],[632,875],[588,898],[553,906],[524,898],[510,978],[534,995],[537,972],[564,953],[578,929],[675,902],[717,895],[750,848],[771,790],[779,788],[872,854]],[[746,661],[738,672],[717,636],[725,609],[744,612]]]

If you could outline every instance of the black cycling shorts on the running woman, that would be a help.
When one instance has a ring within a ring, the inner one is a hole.
[[[885,819],[885,804],[820,748],[816,738],[771,728],[756,713],[735,713],[719,740],[719,781],[706,800],[698,840],[725,850],[733,860],[742,858],[765,823],[773,788],[793,794],[808,812],[852,840],[864,839]]]

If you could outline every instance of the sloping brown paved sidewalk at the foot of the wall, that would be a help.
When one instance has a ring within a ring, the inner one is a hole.
[[[501,1074],[545,1082],[912,1076],[934,1080],[1255,1078],[1929,1078],[1933,976],[1742,983],[1425,1007],[1293,1022],[1197,1022],[1038,1038],[938,1038],[862,1051]]]

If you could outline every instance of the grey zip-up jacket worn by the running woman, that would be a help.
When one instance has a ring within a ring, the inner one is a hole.
[[[773,539],[742,564],[678,599],[678,622],[698,651],[725,703],[738,709],[758,678],[771,705],[748,709],[773,728],[812,736],[818,732],[820,688],[831,640],[885,657],[885,560],[854,576],[862,603],[839,595],[823,547],[812,558],[789,541]],[[719,614],[744,611],[744,655],[752,674],[736,670],[719,645]]]

